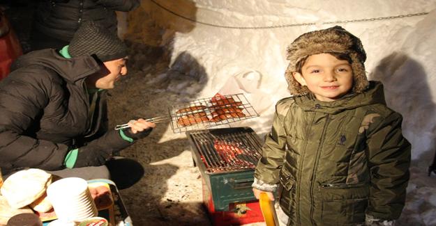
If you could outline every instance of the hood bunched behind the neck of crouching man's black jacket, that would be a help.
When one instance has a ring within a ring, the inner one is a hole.
[[[100,70],[100,65],[92,56],[64,58],[55,49],[43,49],[31,51],[17,58],[11,66],[11,72],[29,65],[48,67],[71,83],[84,79]]]

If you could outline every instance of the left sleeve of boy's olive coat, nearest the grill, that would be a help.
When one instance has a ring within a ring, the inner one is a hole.
[[[285,102],[278,102],[269,134],[265,136],[262,157],[257,163],[255,178],[266,184],[278,184],[278,173],[283,166],[286,133],[283,121],[288,110]]]

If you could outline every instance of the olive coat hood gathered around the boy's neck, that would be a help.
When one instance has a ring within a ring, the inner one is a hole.
[[[384,100],[383,84],[379,81],[370,81],[368,89],[362,93],[345,95],[334,102],[322,102],[315,98],[312,93],[294,97],[295,103],[304,111],[320,111],[324,113],[339,113],[360,106],[371,104],[386,104]]]

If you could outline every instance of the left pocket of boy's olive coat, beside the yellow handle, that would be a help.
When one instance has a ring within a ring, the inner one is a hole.
[[[280,172],[279,203],[282,210],[291,216],[294,213],[295,181],[289,175]]]

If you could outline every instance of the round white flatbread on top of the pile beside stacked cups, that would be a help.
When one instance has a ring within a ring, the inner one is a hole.
[[[31,204],[45,193],[52,183],[52,175],[39,169],[27,169],[10,175],[1,186],[1,195],[10,207],[20,209]]]

